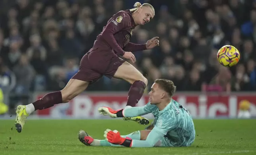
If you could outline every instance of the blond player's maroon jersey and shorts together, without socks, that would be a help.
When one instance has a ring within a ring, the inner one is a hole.
[[[80,61],[79,71],[72,77],[94,83],[102,76],[114,77],[116,70],[125,61],[119,56],[125,51],[141,51],[145,44],[130,43],[135,23],[130,10],[119,11],[109,19],[101,34],[97,36],[93,48]]]

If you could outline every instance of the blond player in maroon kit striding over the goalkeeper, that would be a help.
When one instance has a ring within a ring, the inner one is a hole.
[[[81,59],[79,71],[64,89],[48,93],[26,106],[17,106],[15,123],[17,132],[21,132],[25,119],[30,113],[50,108],[54,104],[69,102],[102,76],[124,79],[131,83],[126,108],[136,106],[147,86],[147,79],[134,66],[119,57],[134,63],[136,58],[131,51],[152,49],[159,45],[158,37],[148,40],[145,44],[129,42],[132,30],[137,25],[148,23],[154,15],[153,6],[139,2],[135,3],[133,9],[119,11],[113,15],[103,27],[101,34],[97,36],[93,47]],[[144,117],[125,118],[125,120],[133,120],[143,125],[149,123]]]

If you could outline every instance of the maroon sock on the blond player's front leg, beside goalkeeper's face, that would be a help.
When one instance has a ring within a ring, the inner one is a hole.
[[[130,87],[126,106],[135,107],[144,93],[146,84],[143,81],[135,81]]]

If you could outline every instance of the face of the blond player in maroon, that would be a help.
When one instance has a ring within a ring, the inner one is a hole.
[[[145,25],[154,17],[154,11],[149,7],[141,7],[138,15],[138,25]]]

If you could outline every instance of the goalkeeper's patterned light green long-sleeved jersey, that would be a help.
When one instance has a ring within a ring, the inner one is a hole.
[[[153,113],[154,128],[146,140],[133,140],[132,147],[190,146],[195,139],[195,128],[190,113],[175,100],[161,111],[156,105],[147,103],[142,107],[124,109],[124,117],[135,117]]]

